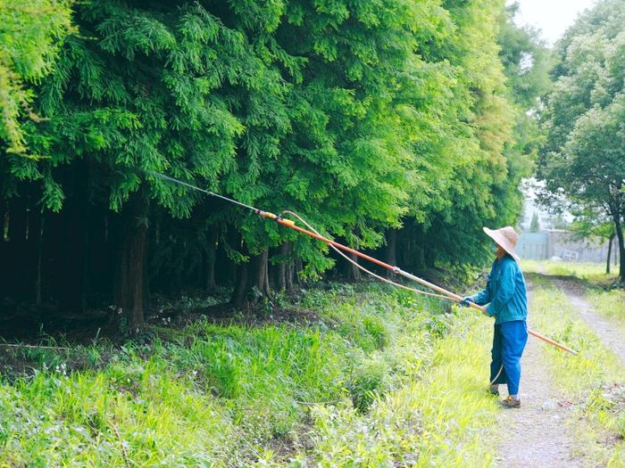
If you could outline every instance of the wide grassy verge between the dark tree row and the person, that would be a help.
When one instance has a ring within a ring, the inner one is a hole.
[[[0,350],[0,467],[490,464],[487,321],[379,285],[285,306],[317,318]]]

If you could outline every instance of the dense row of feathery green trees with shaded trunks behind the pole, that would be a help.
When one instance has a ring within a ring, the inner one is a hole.
[[[140,324],[151,289],[234,284],[240,303],[333,267],[318,242],[155,172],[419,270],[480,264],[481,226],[519,215],[545,61],[503,0],[74,8],[20,137],[40,157],[0,161],[26,297],[73,288],[67,307],[104,298]]]

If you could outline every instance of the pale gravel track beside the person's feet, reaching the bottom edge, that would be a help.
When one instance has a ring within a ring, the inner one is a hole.
[[[531,289],[529,284],[529,295]],[[501,439],[497,448],[497,466],[581,466],[579,461],[571,460],[572,442],[567,436],[565,422],[570,413],[559,405],[559,395],[543,362],[542,346],[529,337],[521,361],[521,409],[504,410],[499,417]],[[504,388],[500,386],[500,390]]]

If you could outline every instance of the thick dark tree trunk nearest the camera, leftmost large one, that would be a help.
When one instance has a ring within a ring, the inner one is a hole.
[[[144,256],[146,254],[147,207],[143,191],[131,195],[125,209],[114,300],[130,329],[144,323]]]

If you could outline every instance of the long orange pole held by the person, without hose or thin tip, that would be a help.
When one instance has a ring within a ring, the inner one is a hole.
[[[275,215],[273,215],[275,216]],[[270,217],[266,217],[266,218],[270,218]],[[448,297],[451,300],[455,300],[456,302],[460,302],[462,300],[462,296],[459,296],[458,294],[454,294],[454,292],[452,291],[447,291],[445,288],[441,288],[440,286],[437,286],[434,283],[429,283],[429,281],[426,281],[422,278],[420,278],[419,276],[415,276],[415,275],[411,275],[410,273],[404,272],[402,269],[398,268],[398,267],[393,267],[392,265],[388,265],[387,263],[380,261],[379,259],[374,259],[373,257],[370,257],[369,255],[362,253],[358,250],[354,250],[351,249],[349,247],[347,247],[346,245],[343,245],[342,243],[338,243],[335,241],[332,241],[326,237],[323,237],[320,234],[316,234],[313,233],[312,231],[309,231],[308,229],[304,229],[303,227],[299,227],[296,226],[295,223],[293,221],[291,221],[290,219],[283,219],[283,218],[275,218],[276,221],[278,221],[278,223],[282,226],[287,226],[290,229],[294,229],[295,231],[302,233],[302,234],[306,234],[309,235],[315,239],[320,240],[321,242],[326,242],[330,245],[333,245],[334,247],[336,247],[337,249],[340,250],[344,250],[346,252],[352,253],[357,257],[360,257],[361,259],[365,259],[370,261],[371,263],[374,263],[376,265],[378,265],[379,267],[383,267],[386,268],[387,270],[391,270],[393,272],[395,272],[397,275],[402,275],[405,276],[406,278],[411,279],[412,281],[415,281],[417,283],[422,284],[423,286],[440,292],[441,294],[445,294],[446,297]],[[472,308],[477,308],[478,310],[481,310],[482,312],[486,311],[486,308],[484,306],[479,306],[478,304],[474,303],[474,302],[470,302],[469,305]],[[541,335],[540,333],[534,332],[533,330],[529,330],[528,329],[528,333],[532,336],[535,336],[538,340],[542,340],[545,341],[546,343],[549,343],[551,345],[554,345],[556,348],[562,349],[563,351],[566,351],[568,353],[571,353],[573,355],[577,355],[577,351],[574,351],[573,349],[563,345],[562,343],[559,343],[557,341],[554,341],[550,338],[547,338],[544,335]]]

